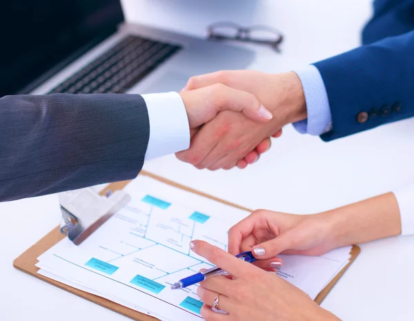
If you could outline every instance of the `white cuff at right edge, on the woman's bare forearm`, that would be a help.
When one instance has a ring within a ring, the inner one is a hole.
[[[401,235],[414,234],[414,184],[393,192],[400,208]]]

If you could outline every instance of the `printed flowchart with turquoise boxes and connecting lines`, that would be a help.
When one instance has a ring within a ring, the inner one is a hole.
[[[213,266],[189,242],[206,240],[226,250],[231,224],[159,197],[136,196],[65,260],[199,316],[197,285],[175,291],[170,286]]]

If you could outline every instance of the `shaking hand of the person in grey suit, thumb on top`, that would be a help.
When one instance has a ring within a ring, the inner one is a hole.
[[[190,129],[193,130],[214,119],[222,110],[241,112],[243,117],[260,122],[268,122],[273,117],[253,94],[224,84],[203,86],[181,92],[180,95],[186,106]]]

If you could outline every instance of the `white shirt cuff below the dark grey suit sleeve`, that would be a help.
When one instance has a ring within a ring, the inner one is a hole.
[[[142,95],[150,120],[145,159],[177,153],[190,147],[186,106],[178,93]]]

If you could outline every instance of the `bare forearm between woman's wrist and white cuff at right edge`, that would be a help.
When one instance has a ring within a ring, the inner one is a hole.
[[[345,246],[401,234],[400,209],[393,193],[322,213],[329,221],[333,242]]]

